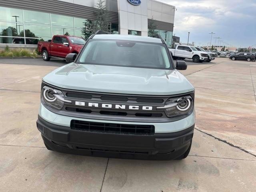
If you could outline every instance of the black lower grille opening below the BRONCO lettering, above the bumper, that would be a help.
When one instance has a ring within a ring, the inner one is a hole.
[[[153,125],[100,123],[72,120],[70,127],[72,130],[113,134],[153,135],[155,133],[155,126]]]

